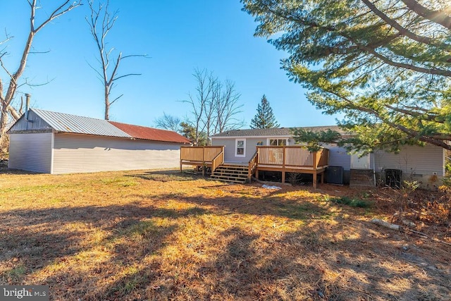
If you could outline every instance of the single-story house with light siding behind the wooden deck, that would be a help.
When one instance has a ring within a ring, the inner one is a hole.
[[[340,131],[336,125],[304,129]],[[248,162],[259,145],[295,145],[290,128],[228,130],[210,138],[211,145],[224,146],[224,161],[236,163]],[[440,179],[445,176],[446,150],[435,145],[405,146],[399,154],[377,151],[366,156],[350,154],[338,145],[325,144],[323,147],[329,150],[328,165],[342,167],[345,183],[350,183],[351,170],[368,170],[371,175],[384,180],[385,171],[396,169],[402,171],[402,180],[417,180],[422,187],[430,189],[441,185]]]

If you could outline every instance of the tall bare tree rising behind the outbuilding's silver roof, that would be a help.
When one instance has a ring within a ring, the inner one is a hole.
[[[86,21],[89,24],[91,35],[96,42],[97,50],[99,51],[99,63],[100,71],[97,68],[89,65],[98,75],[104,85],[104,102],[105,102],[105,119],[109,120],[110,106],[114,104],[118,99],[123,97],[123,94],[119,95],[113,100],[110,100],[111,90],[116,84],[116,80],[125,78],[131,75],[141,75],[140,73],[127,73],[125,75],[118,75],[119,64],[123,59],[128,59],[135,56],[146,57],[145,54],[131,54],[123,56],[122,52],[119,52],[116,58],[113,58],[113,47],[110,49],[106,46],[106,36],[109,34],[111,28],[113,28],[116,20],[118,19],[118,11],[111,13],[109,11],[109,0],[104,3],[99,1],[98,5],[94,4],[94,0],[89,0],[89,8],[91,9],[91,16],[86,17]]]

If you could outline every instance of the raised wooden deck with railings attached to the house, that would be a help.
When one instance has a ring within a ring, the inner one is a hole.
[[[328,149],[320,149],[318,152],[310,152],[302,146],[257,146],[252,159],[249,162],[236,164],[247,166],[247,178],[250,181],[259,171],[280,171],[282,182],[285,182],[285,173],[311,173],[313,186],[316,188],[318,175],[321,175],[321,183],[324,183],[324,171],[328,166]],[[205,166],[211,168],[211,173],[219,166],[223,166],[224,147],[181,147],[180,171],[183,165]],[[229,166],[232,164],[228,164]],[[202,168],[204,174],[205,168]]]

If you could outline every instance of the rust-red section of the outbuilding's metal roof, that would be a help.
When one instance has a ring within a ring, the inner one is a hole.
[[[109,121],[123,132],[134,137],[135,139],[154,140],[164,142],[191,143],[187,137],[173,132],[172,130],[160,130],[159,128],[147,128],[140,125],[131,125],[126,123],[118,123]]]

